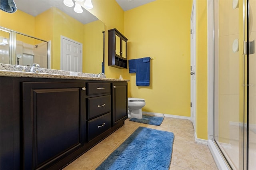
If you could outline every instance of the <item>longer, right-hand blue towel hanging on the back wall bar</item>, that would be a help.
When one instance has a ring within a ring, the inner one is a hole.
[[[136,59],[136,86],[149,86],[150,57]]]

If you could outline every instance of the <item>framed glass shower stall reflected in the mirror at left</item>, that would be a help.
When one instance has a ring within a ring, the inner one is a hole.
[[[50,41],[0,27],[0,63],[50,68]]]

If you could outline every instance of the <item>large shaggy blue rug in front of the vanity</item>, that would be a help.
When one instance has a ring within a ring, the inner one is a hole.
[[[174,134],[138,127],[96,170],[169,170]]]

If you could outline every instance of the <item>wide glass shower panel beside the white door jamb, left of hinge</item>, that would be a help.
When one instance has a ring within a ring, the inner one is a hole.
[[[214,0],[214,140],[233,169],[244,154],[243,3]]]

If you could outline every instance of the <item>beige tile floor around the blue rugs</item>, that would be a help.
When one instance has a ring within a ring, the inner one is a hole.
[[[189,120],[164,118],[160,126],[125,121],[125,125],[80,156],[64,170],[96,169],[139,126],[174,133],[174,146],[170,169],[217,170],[208,146],[195,143],[194,128]]]

